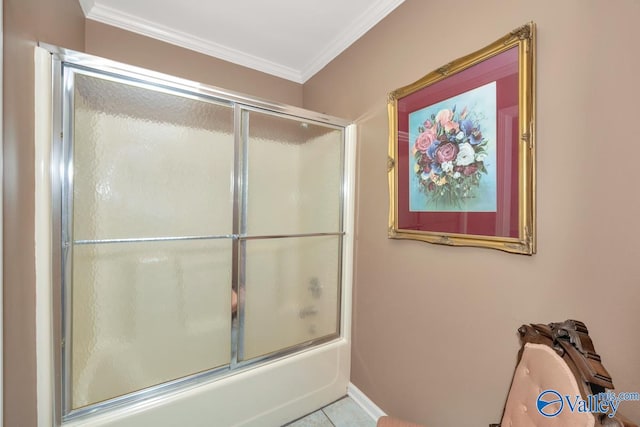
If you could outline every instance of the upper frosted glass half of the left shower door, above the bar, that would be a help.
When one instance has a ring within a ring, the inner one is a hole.
[[[232,233],[233,109],[77,75],[76,240]]]

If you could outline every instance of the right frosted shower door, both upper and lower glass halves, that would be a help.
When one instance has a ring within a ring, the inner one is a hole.
[[[246,111],[240,360],[339,332],[343,130]]]

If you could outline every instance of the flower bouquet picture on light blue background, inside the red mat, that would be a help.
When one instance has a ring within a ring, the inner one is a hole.
[[[409,114],[409,211],[496,211],[496,82]]]

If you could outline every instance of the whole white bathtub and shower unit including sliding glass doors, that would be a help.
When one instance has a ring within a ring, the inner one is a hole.
[[[46,47],[39,419],[261,426],[343,395],[353,127]]]

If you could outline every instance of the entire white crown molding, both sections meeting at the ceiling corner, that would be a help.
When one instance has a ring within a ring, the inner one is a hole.
[[[124,13],[105,6],[99,1],[96,2],[96,0],[79,0],[79,2],[88,19],[303,84],[402,4],[404,0],[376,1],[302,69],[288,67],[139,16]]]

